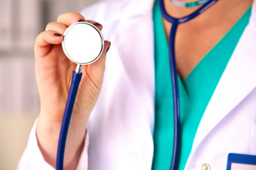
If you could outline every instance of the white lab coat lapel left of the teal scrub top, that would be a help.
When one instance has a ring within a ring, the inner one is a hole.
[[[139,99],[139,105],[143,108],[142,114],[146,116],[148,127],[153,127],[154,33],[151,11],[154,2],[142,0],[139,3],[133,0],[131,3],[134,4],[130,4],[124,9],[130,14],[122,14],[119,31],[112,35],[111,41],[117,50],[131,85],[136,91],[137,96],[134,97]],[[131,14],[134,8],[137,12]]]

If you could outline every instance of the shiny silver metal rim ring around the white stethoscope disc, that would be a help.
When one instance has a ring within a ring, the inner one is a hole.
[[[101,38],[101,41],[102,41],[102,47],[101,47],[101,50],[100,50],[100,52],[99,52],[99,55],[98,55],[95,59],[93,59],[92,61],[90,61],[90,62],[84,62],[84,63],[76,62],[76,60],[74,60],[74,59],[68,54],[67,49],[66,49],[66,46],[65,46],[65,38],[66,38],[67,33],[68,33],[73,27],[75,27],[75,26],[77,26],[77,25],[79,25],[79,24],[87,24],[87,25],[93,27],[93,28],[98,32],[98,34],[99,34],[99,36],[100,36],[100,38]],[[78,23],[73,23],[72,25],[70,25],[70,26],[66,29],[66,31],[64,32],[64,34],[63,34],[63,40],[62,40],[61,43],[62,43],[62,49],[63,49],[64,53],[66,54],[67,58],[70,59],[72,62],[75,62],[75,63],[78,64],[78,65],[88,65],[88,64],[91,64],[91,63],[95,62],[97,59],[99,59],[99,57],[102,55],[103,50],[104,50],[104,37],[103,37],[101,31],[99,31],[99,29],[98,29],[96,26],[94,26],[93,24],[87,23],[87,22],[78,22]]]

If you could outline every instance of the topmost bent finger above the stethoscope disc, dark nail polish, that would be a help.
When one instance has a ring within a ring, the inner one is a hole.
[[[84,17],[78,12],[67,12],[58,16],[57,22],[62,23],[69,27],[73,23],[79,22],[79,20],[85,20]]]

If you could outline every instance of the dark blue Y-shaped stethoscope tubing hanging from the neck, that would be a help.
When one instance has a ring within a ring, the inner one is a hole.
[[[170,166],[170,170],[177,170],[178,168],[178,159],[180,153],[180,99],[179,99],[179,88],[178,88],[178,80],[177,80],[177,67],[175,61],[175,36],[177,32],[177,28],[179,24],[186,23],[189,20],[194,19],[213,4],[215,4],[218,0],[209,0],[207,3],[202,5],[198,10],[189,14],[186,17],[182,18],[175,18],[167,14],[166,9],[164,7],[163,0],[159,0],[160,4],[160,11],[165,20],[169,23],[172,23],[172,28],[169,35],[169,62],[170,62],[170,69],[171,69],[171,79],[172,79],[172,91],[173,91],[173,110],[174,110],[174,142],[173,142],[173,153],[172,153],[172,163]]]

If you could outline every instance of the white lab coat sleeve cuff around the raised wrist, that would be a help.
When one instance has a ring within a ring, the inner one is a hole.
[[[21,156],[17,170],[55,170],[51,165],[49,165],[38,147],[37,137],[35,133],[37,121],[35,121],[34,126],[29,134],[29,140],[27,142],[26,149]],[[88,156],[87,149],[89,144],[89,132],[87,130],[84,148],[81,153],[79,164],[76,170],[87,170],[88,169]]]

